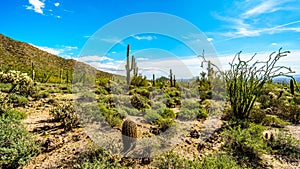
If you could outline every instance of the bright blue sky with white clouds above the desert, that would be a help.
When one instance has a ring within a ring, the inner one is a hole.
[[[256,52],[264,59],[283,47],[292,53],[281,63],[300,72],[298,0],[9,0],[1,3],[0,33],[61,57],[83,57],[83,61],[105,71],[122,71],[126,45],[130,43],[140,67],[148,65],[147,69],[151,70],[155,65],[160,69],[159,62],[155,62],[158,60],[162,67],[176,69],[176,61],[172,61],[177,60],[187,65],[191,74],[199,74],[196,54],[178,39],[155,32],[128,35],[123,39],[117,36],[116,32],[132,29],[132,25],[112,31],[111,35],[116,36],[102,38],[103,43],[112,43],[107,53],[86,53],[91,47],[89,41],[95,39],[104,26],[128,15],[157,12],[177,16],[197,27],[203,33],[201,37],[190,34],[187,38],[195,42],[205,38],[224,68],[239,51],[246,57]],[[93,48],[96,50],[97,46]],[[147,69],[142,73],[147,74]],[[182,71],[177,72],[180,73]]]

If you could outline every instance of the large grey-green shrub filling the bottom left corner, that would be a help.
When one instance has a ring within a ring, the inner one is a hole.
[[[14,117],[0,116],[0,138],[0,168],[18,168],[39,153],[38,144]]]

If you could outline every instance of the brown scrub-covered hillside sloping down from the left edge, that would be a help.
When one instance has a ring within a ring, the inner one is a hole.
[[[68,74],[71,81],[75,66],[76,69],[80,68],[88,72],[94,72],[97,76],[112,76],[112,74],[97,70],[88,64],[74,59],[64,59],[28,43],[13,40],[0,34],[0,69],[2,71],[19,70],[31,76],[32,65],[37,81],[49,77],[47,82],[59,82],[61,74],[63,74],[63,77]]]

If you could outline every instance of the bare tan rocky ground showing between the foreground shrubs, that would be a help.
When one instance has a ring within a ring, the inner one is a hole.
[[[30,101],[25,108],[20,108],[28,114],[24,119],[27,129],[32,132],[42,144],[42,152],[30,160],[24,167],[33,168],[76,168],[78,161],[83,160],[82,156],[88,152],[93,143],[83,128],[73,129],[65,132],[60,124],[53,122],[49,111],[53,108],[51,100],[60,98],[59,102],[72,99],[71,94],[52,94],[48,98],[39,101]],[[176,110],[175,110],[176,111]],[[135,119],[139,126],[140,136],[149,132],[150,126],[143,125],[141,119]],[[203,157],[207,154],[220,151],[222,140],[218,134],[224,122],[219,116],[213,116],[205,121],[196,121],[188,134],[181,138],[173,150],[182,157],[193,159],[194,156]],[[289,125],[285,127],[292,135],[300,139],[300,125]],[[286,162],[272,155],[264,155],[266,164],[274,169],[300,168],[299,162]],[[149,166],[139,166],[139,168]]]

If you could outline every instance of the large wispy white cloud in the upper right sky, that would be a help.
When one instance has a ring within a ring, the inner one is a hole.
[[[254,3],[253,3],[254,2]],[[294,3],[291,3],[294,2]],[[294,0],[266,0],[266,1],[244,1],[243,4],[238,4],[232,9],[234,12],[225,12],[222,14],[213,13],[215,19],[223,21],[222,29],[210,33],[216,36],[223,36],[230,39],[241,37],[254,37],[264,34],[277,34],[282,32],[300,32],[300,23],[298,17],[293,17],[296,13],[295,8],[291,6],[296,1]],[[243,5],[242,7],[240,7]],[[290,16],[285,18],[284,11]],[[295,12],[295,13],[293,13]],[[274,18],[277,18],[276,20]],[[283,21],[286,21],[285,23]],[[223,41],[223,40],[222,40]]]

